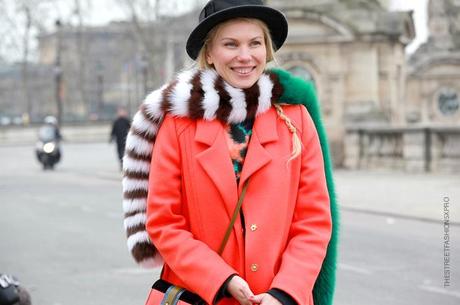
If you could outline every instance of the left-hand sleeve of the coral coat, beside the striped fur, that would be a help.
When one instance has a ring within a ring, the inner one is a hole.
[[[208,304],[237,273],[205,243],[194,238],[182,213],[181,157],[175,119],[166,116],[150,167],[146,228],[165,263]]]

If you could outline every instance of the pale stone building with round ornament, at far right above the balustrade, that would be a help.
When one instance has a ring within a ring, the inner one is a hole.
[[[428,41],[411,56],[409,123],[460,125],[460,1],[431,0]]]

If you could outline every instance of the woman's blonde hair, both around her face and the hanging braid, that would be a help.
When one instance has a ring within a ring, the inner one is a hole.
[[[273,41],[270,36],[270,30],[268,29],[267,25],[259,19],[234,18],[234,19],[230,19],[230,20],[224,21],[216,25],[214,28],[211,29],[211,31],[209,31],[204,41],[203,47],[201,47],[201,50],[198,53],[198,57],[196,59],[196,63],[199,69],[214,68],[212,65],[209,65],[208,61],[206,60],[206,56],[208,54],[209,48],[211,47],[212,41],[216,37],[219,29],[221,29],[223,26],[230,23],[231,21],[235,21],[235,20],[250,22],[262,28],[262,32],[264,33],[265,47],[267,49],[267,61],[266,62],[268,63],[270,61],[274,61],[276,63],[276,58],[275,58],[276,50],[274,48]],[[278,114],[278,116],[285,122],[287,128],[292,133],[292,153],[291,153],[291,157],[288,160],[288,162],[290,162],[300,155],[302,151],[302,142],[300,141],[300,138],[297,135],[297,129],[292,124],[291,119],[284,113],[283,108],[279,104],[275,104],[274,107],[276,108],[276,113]]]

